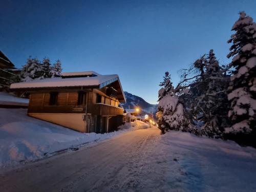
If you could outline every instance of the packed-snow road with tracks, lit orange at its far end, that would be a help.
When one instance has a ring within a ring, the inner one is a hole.
[[[0,176],[0,191],[146,190],[151,187],[148,180],[160,179],[151,172],[153,165],[149,162],[159,137],[156,127],[128,132],[12,170]]]

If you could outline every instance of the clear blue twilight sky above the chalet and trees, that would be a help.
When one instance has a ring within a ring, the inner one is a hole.
[[[177,71],[210,49],[228,62],[239,11],[256,19],[256,0],[0,1],[0,49],[16,67],[47,56],[64,72],[118,74],[150,103],[165,71],[177,84]]]

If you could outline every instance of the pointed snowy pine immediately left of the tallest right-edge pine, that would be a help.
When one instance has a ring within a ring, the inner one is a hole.
[[[220,137],[227,126],[227,86],[229,77],[224,66],[219,66],[214,50],[210,50],[205,65],[204,86],[206,92],[201,95],[202,134],[208,137]]]

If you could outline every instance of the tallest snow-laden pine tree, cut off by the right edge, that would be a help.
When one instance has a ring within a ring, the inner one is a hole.
[[[232,125],[225,132],[229,138],[256,146],[256,24],[240,12],[232,31],[235,33],[228,40],[232,45],[227,55],[232,57],[230,67],[234,69],[228,94]]]

